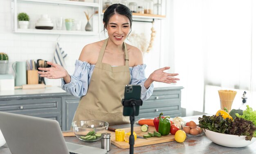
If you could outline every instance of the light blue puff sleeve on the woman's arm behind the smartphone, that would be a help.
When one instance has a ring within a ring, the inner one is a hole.
[[[148,87],[148,89],[144,87],[144,82],[147,79],[145,76],[145,68],[145,64],[130,67],[130,85],[141,85],[141,100],[147,100],[152,95],[154,89],[153,83]]]

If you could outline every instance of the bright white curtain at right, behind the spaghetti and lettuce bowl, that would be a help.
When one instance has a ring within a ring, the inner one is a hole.
[[[175,72],[184,87],[183,108],[215,113],[220,108],[217,90],[234,89],[232,108],[241,105],[247,91],[247,104],[256,110],[254,3],[173,0]]]

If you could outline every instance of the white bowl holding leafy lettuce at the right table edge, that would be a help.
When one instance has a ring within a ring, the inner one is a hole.
[[[246,147],[256,141],[256,137],[253,137],[251,141],[246,141],[246,136],[239,137],[238,135],[222,134],[207,129],[204,129],[204,133],[208,139],[225,147]]]

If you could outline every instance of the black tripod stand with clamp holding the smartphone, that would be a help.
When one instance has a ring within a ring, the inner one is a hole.
[[[136,108],[135,106],[141,106],[142,105],[142,100],[135,100],[135,99],[130,99],[130,100],[124,100],[122,99],[122,104],[124,107],[132,107],[132,114],[130,115],[130,124],[131,124],[131,135],[129,137],[129,144],[130,144],[130,154],[133,154],[133,147],[134,147],[134,135],[133,135],[133,124],[135,121],[135,111]]]

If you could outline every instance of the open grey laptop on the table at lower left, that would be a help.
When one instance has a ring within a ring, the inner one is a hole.
[[[58,121],[0,112],[0,130],[12,154],[106,154],[107,150],[65,142]]]

